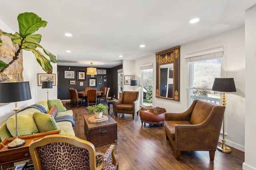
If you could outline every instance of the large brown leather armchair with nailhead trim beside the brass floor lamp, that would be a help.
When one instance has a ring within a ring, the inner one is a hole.
[[[183,113],[165,113],[166,139],[174,147],[176,159],[180,151],[209,151],[214,160],[225,106],[203,100],[194,100]]]

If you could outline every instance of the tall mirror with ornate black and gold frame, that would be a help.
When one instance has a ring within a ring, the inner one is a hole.
[[[180,46],[156,53],[156,97],[180,101]]]

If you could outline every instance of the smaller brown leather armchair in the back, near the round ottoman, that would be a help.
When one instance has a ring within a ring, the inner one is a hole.
[[[124,91],[119,100],[114,101],[114,113],[117,117],[117,113],[134,114],[140,111],[139,92]]]

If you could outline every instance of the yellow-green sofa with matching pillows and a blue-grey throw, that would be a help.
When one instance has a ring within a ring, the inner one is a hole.
[[[42,113],[45,112],[45,113]],[[67,110],[60,99],[40,100],[18,112],[18,136],[61,130],[61,134],[75,136],[73,111]],[[15,115],[0,126],[3,141],[16,136]]]

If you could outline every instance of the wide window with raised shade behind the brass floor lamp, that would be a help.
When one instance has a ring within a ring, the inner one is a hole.
[[[188,103],[195,99],[220,104],[220,92],[212,91],[214,78],[222,76],[223,47],[185,55],[188,68]]]

